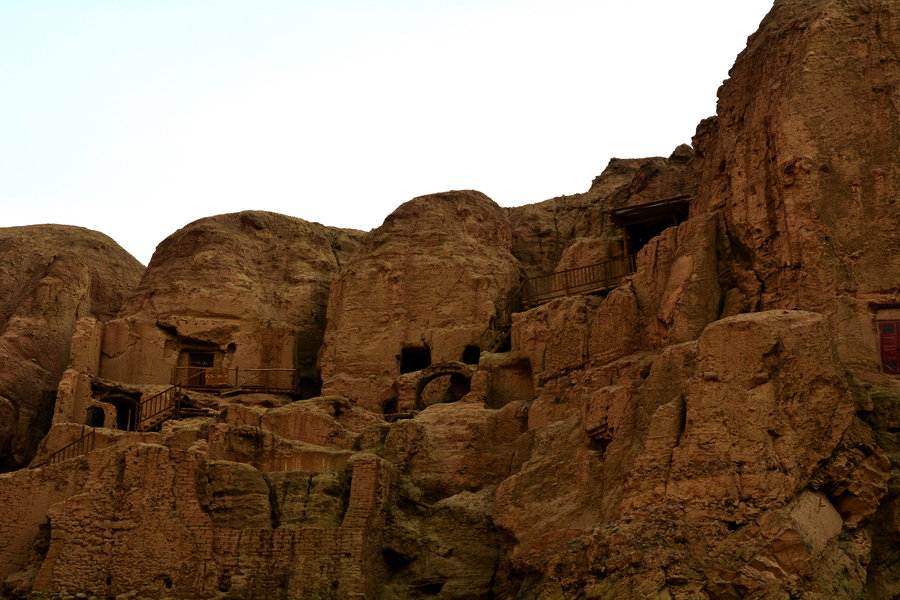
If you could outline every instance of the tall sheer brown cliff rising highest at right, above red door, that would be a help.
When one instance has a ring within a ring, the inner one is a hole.
[[[695,214],[721,211],[740,310],[832,320],[843,360],[877,368],[871,303],[896,304],[896,5],[776,3],[701,123]]]

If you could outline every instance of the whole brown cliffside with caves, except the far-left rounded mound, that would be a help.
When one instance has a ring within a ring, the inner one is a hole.
[[[584,194],[220,215],[115,318],[51,295],[0,595],[900,596],[898,43],[779,0],[691,146]]]

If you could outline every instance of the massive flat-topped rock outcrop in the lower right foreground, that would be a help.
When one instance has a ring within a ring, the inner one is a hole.
[[[545,593],[652,584],[647,595],[677,597],[721,580],[746,597],[870,552],[857,524],[873,514],[865,498],[887,491],[890,463],[871,434],[857,437],[868,428],[821,315],[739,315],[649,364],[560,379],[569,385],[547,382],[532,404],[534,443],[494,510],[516,540],[514,567],[543,573]],[[548,486],[549,473],[575,485]],[[834,543],[841,531],[852,548]],[[847,597],[865,586],[853,573]],[[837,593],[836,581],[818,585]]]

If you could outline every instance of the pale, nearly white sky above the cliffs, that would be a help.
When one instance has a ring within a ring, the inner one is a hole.
[[[772,0],[0,0],[0,226],[147,264],[210,215],[369,230],[668,156]]]

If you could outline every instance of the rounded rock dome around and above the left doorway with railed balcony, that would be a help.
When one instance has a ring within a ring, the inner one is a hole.
[[[225,369],[297,368],[315,395],[329,287],[360,235],[260,211],[185,226],[107,325],[102,376],[183,381],[193,351]]]

